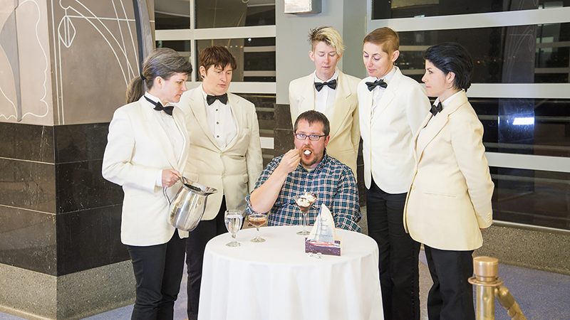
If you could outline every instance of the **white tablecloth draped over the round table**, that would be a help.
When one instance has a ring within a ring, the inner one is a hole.
[[[378,246],[367,235],[338,230],[341,256],[309,257],[300,226],[240,230],[204,252],[199,320],[383,319]]]

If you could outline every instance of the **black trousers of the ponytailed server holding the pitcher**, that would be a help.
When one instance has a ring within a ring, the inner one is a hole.
[[[137,281],[133,320],[173,319],[184,270],[185,240],[177,230],[162,245],[127,246]]]

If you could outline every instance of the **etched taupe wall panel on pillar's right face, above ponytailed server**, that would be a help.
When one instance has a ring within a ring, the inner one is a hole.
[[[53,0],[56,124],[108,122],[138,76],[133,1]]]

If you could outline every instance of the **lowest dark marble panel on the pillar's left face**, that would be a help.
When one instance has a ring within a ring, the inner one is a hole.
[[[56,215],[0,206],[0,263],[55,275]]]

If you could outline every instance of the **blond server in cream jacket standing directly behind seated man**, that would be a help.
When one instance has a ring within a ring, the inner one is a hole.
[[[356,87],[360,79],[336,68],[343,56],[344,45],[335,28],[312,29],[309,43],[309,58],[315,64],[315,71],[289,83],[291,126],[294,127],[299,114],[307,110],[325,114],[331,123],[326,153],[351,167],[356,177],[356,158],[361,142]]]

